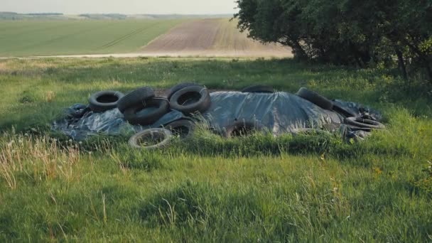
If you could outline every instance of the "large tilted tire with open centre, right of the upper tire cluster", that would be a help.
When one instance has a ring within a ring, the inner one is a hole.
[[[171,109],[186,115],[206,112],[210,108],[210,92],[205,87],[189,86],[178,90],[170,99]]]

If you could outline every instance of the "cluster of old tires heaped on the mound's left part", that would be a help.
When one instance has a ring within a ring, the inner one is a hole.
[[[127,95],[115,91],[102,91],[90,97],[90,108],[93,112],[105,112],[118,108],[124,119],[133,125],[148,126],[156,123],[173,110],[182,112],[186,117],[202,114],[210,108],[210,91],[195,83],[175,85],[165,97],[156,97],[151,87],[141,87]],[[180,119],[160,129],[147,129],[133,136],[129,144],[137,148],[161,148],[168,144],[173,135],[187,139],[193,134],[195,124],[190,119]],[[148,137],[158,137],[160,141],[150,146],[141,141]],[[163,139],[160,139],[163,138]]]

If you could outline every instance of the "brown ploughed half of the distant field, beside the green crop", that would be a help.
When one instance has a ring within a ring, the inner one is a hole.
[[[240,33],[236,21],[199,19],[159,36],[139,53],[155,56],[292,57],[291,48],[262,44]]]

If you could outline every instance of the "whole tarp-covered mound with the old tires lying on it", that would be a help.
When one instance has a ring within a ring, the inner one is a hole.
[[[347,138],[363,139],[373,129],[384,129],[381,115],[353,102],[330,101],[301,88],[296,95],[254,85],[241,92],[211,92],[195,83],[182,83],[157,97],[151,87],[127,95],[102,91],[89,104],[75,104],[53,129],[82,140],[97,134],[135,134],[135,148],[161,148],[173,134],[193,136],[196,124],[205,122],[227,138],[252,131],[298,134],[304,131],[343,131]],[[341,129],[342,128],[342,129]]]

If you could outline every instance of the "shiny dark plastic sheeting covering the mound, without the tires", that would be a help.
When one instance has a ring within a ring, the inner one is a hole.
[[[337,112],[322,109],[306,99],[287,92],[213,92],[210,97],[211,107],[201,118],[216,131],[223,131],[235,121],[249,121],[279,136],[296,133],[302,129],[320,129],[326,124],[340,126],[344,121],[344,117]],[[353,102],[334,102],[356,114],[368,112],[378,121],[381,119],[379,112],[374,109]],[[65,119],[54,122],[53,130],[78,141],[98,134],[131,136],[144,129],[161,127],[178,119],[188,118],[181,112],[172,110],[151,126],[132,126],[124,120],[118,109],[94,113],[85,105],[75,104],[66,113]],[[365,136],[362,131],[352,131],[350,136],[356,136],[357,133]]]

